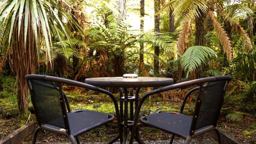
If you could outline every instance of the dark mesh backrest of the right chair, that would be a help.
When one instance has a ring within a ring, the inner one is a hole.
[[[205,85],[202,83],[198,87],[190,135],[204,126],[217,125],[228,81],[229,77],[217,77],[217,81],[204,83]]]

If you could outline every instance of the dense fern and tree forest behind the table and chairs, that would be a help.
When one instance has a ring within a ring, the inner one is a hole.
[[[83,82],[136,73],[172,77],[175,83],[231,76],[221,126],[255,143],[255,3],[1,0],[1,138],[12,131],[6,127],[30,122],[26,74]],[[162,101],[181,99],[162,95]]]

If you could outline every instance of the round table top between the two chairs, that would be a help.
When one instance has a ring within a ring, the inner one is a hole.
[[[85,83],[102,87],[155,87],[173,84],[173,78],[168,77],[92,77],[86,78]]]

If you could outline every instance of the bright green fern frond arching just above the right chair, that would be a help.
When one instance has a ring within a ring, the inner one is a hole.
[[[191,46],[180,58],[181,67],[186,71],[188,77],[190,71],[207,64],[212,57],[217,58],[217,54],[210,47]]]

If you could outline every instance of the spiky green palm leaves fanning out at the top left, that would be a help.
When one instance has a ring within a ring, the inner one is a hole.
[[[59,32],[59,29],[61,29],[65,37],[69,39],[68,28],[58,17],[56,10],[61,11],[63,17],[68,20],[70,20],[70,16],[57,1],[6,1],[5,4],[1,3],[0,7],[2,10],[0,13],[0,29],[5,29],[3,36],[8,37],[8,39],[3,39],[1,44],[9,44],[5,47],[10,47],[12,34],[15,33],[13,31],[14,27],[18,27],[18,36],[23,35],[22,43],[24,47],[27,44],[29,28],[34,30],[36,49],[39,52],[40,47],[38,46],[44,41],[47,48],[45,51],[46,59],[51,59],[52,33],[55,33],[58,36],[57,39],[61,42],[63,40],[63,36]],[[50,25],[53,23],[54,25]],[[23,32],[21,33],[21,31]],[[65,52],[64,49],[63,51]]]

